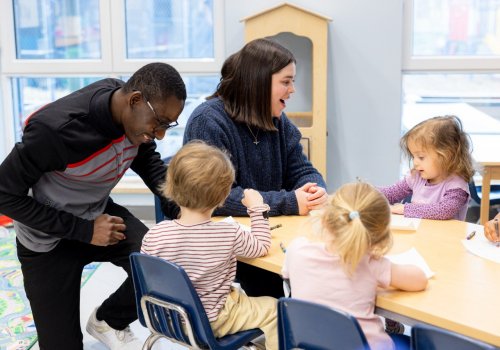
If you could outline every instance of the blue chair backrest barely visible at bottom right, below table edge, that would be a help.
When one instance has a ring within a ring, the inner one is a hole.
[[[442,328],[417,324],[411,329],[412,350],[486,350],[497,349],[483,343]]]

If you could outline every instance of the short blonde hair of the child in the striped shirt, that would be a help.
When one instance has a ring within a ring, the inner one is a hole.
[[[170,161],[162,191],[179,206],[208,210],[224,204],[233,182],[229,156],[195,140],[184,145]]]

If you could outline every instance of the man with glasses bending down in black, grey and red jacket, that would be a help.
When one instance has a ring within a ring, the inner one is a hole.
[[[110,349],[140,349],[129,254],[147,227],[109,197],[127,169],[158,191],[166,166],[155,139],[177,125],[186,88],[165,63],[127,81],[104,79],[33,113],[0,165],[0,212],[14,219],[17,254],[41,349],[83,349],[83,267],[110,261],[128,277],[90,316],[87,331]],[[177,217],[165,198],[163,210]]]

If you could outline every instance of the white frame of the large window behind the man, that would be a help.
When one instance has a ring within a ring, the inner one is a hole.
[[[224,62],[224,0],[213,0],[213,59],[128,59],[126,57],[125,0],[99,0],[101,26],[100,59],[18,59],[14,28],[13,2],[0,1],[0,110],[3,120],[3,145],[0,144],[0,159],[3,159],[15,142],[14,102],[11,86],[13,77],[81,77],[127,76],[152,61],[166,62],[183,76],[220,74]],[[113,15],[111,15],[113,14]]]

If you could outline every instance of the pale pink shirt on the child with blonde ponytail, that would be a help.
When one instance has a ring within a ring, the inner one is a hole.
[[[394,349],[380,317],[375,315],[377,287],[391,283],[391,262],[365,256],[352,277],[340,257],[325,245],[299,237],[287,247],[282,275],[290,279],[292,297],[350,313],[358,320],[373,350]]]

